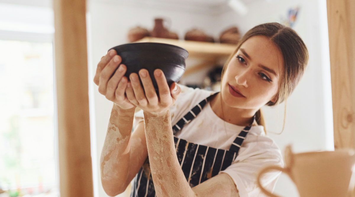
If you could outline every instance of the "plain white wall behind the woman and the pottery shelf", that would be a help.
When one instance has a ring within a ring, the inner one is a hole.
[[[224,28],[236,24],[242,33],[257,24],[278,22],[280,16],[286,17],[291,6],[300,6],[298,21],[294,29],[308,47],[310,61],[303,79],[287,101],[285,129],[280,133],[283,124],[283,105],[264,107],[267,128],[281,150],[292,144],[295,152],[332,149],[332,103],[330,87],[329,50],[327,51],[327,25],[325,0],[255,0],[248,4],[249,13],[239,16],[230,9],[220,15],[176,11],[174,9],[153,9],[152,7],[119,5],[103,2],[90,2],[89,12],[89,58],[91,80],[100,58],[113,46],[127,43],[129,28],[136,25],[148,29],[153,28],[155,17],[169,17],[172,21],[171,30],[182,38],[184,33],[199,27],[208,34],[217,36]],[[325,10],[325,11],[324,11]],[[100,95],[97,86],[93,86],[93,103],[95,120],[97,163],[93,166],[94,178],[98,184],[100,197],[107,196],[101,186],[98,174],[98,158],[103,146],[112,103]],[[92,111],[93,112],[93,111]],[[94,151],[93,151],[94,152]],[[298,196],[294,185],[284,175],[279,179],[275,193],[282,196]]]

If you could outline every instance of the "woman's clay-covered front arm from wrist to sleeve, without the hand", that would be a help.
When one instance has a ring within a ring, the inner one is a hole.
[[[176,157],[169,110],[144,113],[146,140],[155,192],[158,197],[239,197],[228,174],[219,174],[191,188]]]

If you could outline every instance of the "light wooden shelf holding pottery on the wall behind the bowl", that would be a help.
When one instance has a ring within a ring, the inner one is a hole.
[[[200,41],[174,40],[166,38],[145,37],[136,43],[165,43],[180,46],[189,52],[189,57],[217,60],[218,58],[228,57],[234,52],[236,45],[207,43]]]

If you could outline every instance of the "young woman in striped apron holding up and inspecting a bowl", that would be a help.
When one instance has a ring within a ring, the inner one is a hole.
[[[255,174],[283,161],[264,133],[260,108],[285,101],[308,61],[294,30],[278,23],[249,30],[226,62],[217,93],[169,87],[157,69],[157,96],[147,70],[128,80],[120,61],[109,51],[94,78],[99,92],[114,102],[100,159],[109,196],[122,193],[133,178],[131,196],[262,195]],[[135,115],[136,107],[142,111]],[[278,176],[268,173],[262,183],[273,190]]]

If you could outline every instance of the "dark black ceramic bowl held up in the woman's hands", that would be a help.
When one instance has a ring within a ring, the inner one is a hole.
[[[125,76],[147,69],[152,78],[155,91],[158,85],[154,78],[154,70],[161,69],[168,85],[178,82],[185,72],[185,60],[189,53],[178,46],[163,43],[130,43],[115,46],[117,55],[121,56],[122,64],[127,67]],[[110,49],[111,50],[111,49]],[[142,83],[142,81],[141,81]]]

